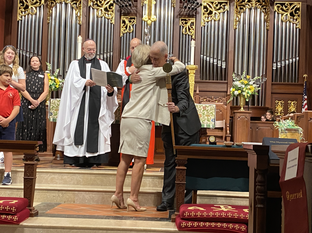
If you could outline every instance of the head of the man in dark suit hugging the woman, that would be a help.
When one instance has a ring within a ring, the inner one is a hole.
[[[163,41],[156,41],[149,55],[154,67],[162,67],[168,58],[168,46]]]

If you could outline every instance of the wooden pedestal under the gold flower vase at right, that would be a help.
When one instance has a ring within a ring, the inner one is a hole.
[[[233,113],[234,143],[249,142],[251,111],[234,111]]]

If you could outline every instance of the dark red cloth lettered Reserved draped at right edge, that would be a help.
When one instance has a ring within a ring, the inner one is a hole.
[[[280,175],[280,188],[282,190],[285,209],[285,233],[309,233],[307,193],[305,180],[303,178],[305,148],[308,144],[310,143],[290,144],[285,153],[283,168]],[[298,153],[298,159],[294,156],[288,156],[289,154],[292,155],[294,151]],[[289,177],[289,172],[296,167],[296,176],[287,179],[287,176]],[[288,172],[287,176],[286,171]]]

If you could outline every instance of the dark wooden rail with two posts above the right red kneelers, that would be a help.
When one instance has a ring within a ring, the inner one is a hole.
[[[249,166],[249,233],[266,232],[266,174],[269,166],[269,146],[244,145],[244,148],[174,146],[176,157],[176,203],[177,211],[171,221],[179,214],[184,203],[186,167],[188,159],[248,160]]]

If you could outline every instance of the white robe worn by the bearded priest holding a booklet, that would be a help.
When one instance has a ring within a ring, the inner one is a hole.
[[[100,60],[101,70],[110,71],[106,62]],[[114,88],[114,95],[107,96],[105,87],[101,87],[101,108],[99,115],[99,145],[98,153],[86,152],[87,131],[88,131],[88,113],[89,113],[89,87],[85,87],[86,80],[90,79],[91,64],[86,64],[86,79],[81,78],[78,61],[71,62],[61,95],[59,113],[56,122],[53,144],[56,144],[57,150],[64,151],[64,155],[73,156],[96,156],[110,152],[110,125],[115,120],[114,112],[118,107],[117,88]],[[84,143],[83,145],[74,145],[74,134],[80,108],[81,98],[85,95],[85,118],[84,118]]]

